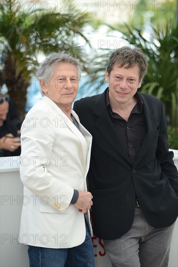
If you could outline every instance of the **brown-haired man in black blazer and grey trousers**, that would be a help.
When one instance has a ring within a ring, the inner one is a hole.
[[[168,266],[178,217],[178,171],[162,101],[137,92],[146,73],[142,50],[118,49],[106,69],[109,87],[74,104],[93,135],[93,231],[113,267]]]

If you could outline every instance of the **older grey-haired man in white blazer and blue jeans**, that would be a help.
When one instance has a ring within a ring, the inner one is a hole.
[[[86,185],[92,136],[72,110],[80,71],[64,52],[45,59],[37,73],[43,99],[22,124],[19,241],[29,245],[31,267],[95,266]]]

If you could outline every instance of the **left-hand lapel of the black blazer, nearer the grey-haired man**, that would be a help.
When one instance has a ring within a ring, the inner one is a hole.
[[[122,145],[122,140],[120,140],[119,134],[115,131],[115,128],[108,114],[105,101],[106,91],[107,89],[98,97],[94,104],[93,113],[98,116],[98,120],[95,126],[106,139],[106,142],[109,142],[113,149],[121,154],[121,156],[130,163],[129,155],[125,151]]]

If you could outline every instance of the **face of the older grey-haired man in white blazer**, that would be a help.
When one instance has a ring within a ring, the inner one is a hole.
[[[40,84],[45,95],[59,107],[72,105],[79,87],[77,67],[71,63],[59,63],[49,83],[40,81]]]

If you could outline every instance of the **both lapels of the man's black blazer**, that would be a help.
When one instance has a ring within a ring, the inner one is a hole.
[[[124,147],[122,145],[122,140],[119,139],[119,135],[115,131],[115,128],[108,114],[106,106],[107,89],[102,94],[97,95],[97,98],[94,103],[93,113],[98,116],[96,128],[106,138],[106,141],[112,145],[113,149],[116,150],[119,154],[121,154],[121,156],[124,157],[130,163],[129,155],[124,150]],[[143,110],[146,118],[148,131],[144,139],[144,142],[142,144],[142,147],[139,151],[139,154],[137,156],[135,166],[145,156],[146,151],[148,150],[148,148],[152,144],[152,141],[154,140],[158,128],[158,119],[154,117],[152,114],[154,108],[151,104],[151,101],[148,102],[145,94],[141,94],[138,92],[138,95],[141,97],[143,101]]]

